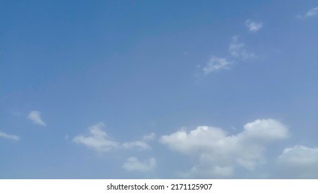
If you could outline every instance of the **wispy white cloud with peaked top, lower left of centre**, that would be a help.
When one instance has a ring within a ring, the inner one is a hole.
[[[109,152],[114,148],[118,148],[118,143],[110,139],[103,128],[105,128],[103,122],[92,125],[92,127],[88,128],[89,136],[78,135],[74,137],[73,141],[92,148],[97,152]]]

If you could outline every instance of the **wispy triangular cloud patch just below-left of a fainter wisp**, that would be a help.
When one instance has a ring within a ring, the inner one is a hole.
[[[228,61],[227,59],[222,59],[222,58],[212,56],[202,70],[204,74],[209,74],[211,72],[216,72],[218,70],[230,69],[229,65],[231,63],[233,63],[233,61]]]

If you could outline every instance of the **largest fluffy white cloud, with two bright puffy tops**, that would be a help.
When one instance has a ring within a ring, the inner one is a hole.
[[[160,138],[171,150],[194,159],[198,165],[190,170],[192,176],[229,177],[235,167],[255,170],[264,164],[266,147],[286,139],[288,129],[273,119],[258,119],[244,125],[236,135],[227,135],[221,128],[199,126],[190,132],[180,130]]]

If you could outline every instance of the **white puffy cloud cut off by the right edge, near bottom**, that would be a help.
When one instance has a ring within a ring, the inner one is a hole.
[[[295,145],[284,149],[277,160],[284,178],[318,178],[318,148]]]

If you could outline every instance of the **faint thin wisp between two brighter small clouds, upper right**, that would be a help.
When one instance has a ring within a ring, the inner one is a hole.
[[[245,49],[246,45],[240,42],[238,36],[233,36],[232,41],[229,46],[229,52],[233,57],[237,57],[240,59],[253,59],[255,58],[255,54],[251,52],[247,52]]]

